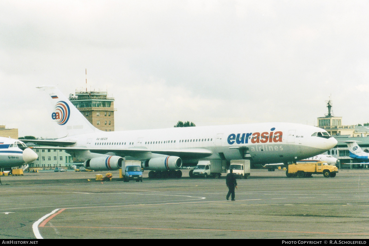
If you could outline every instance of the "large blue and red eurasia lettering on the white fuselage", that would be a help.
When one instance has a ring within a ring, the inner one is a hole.
[[[276,131],[274,132],[275,127],[270,129],[270,132],[263,132],[263,133],[238,133],[236,134],[232,133],[228,136],[228,144],[248,144],[249,137],[251,137],[251,143],[278,143],[282,142],[283,133],[282,131]]]

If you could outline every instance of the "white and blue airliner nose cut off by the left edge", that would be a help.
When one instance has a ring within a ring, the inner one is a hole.
[[[0,168],[21,166],[37,157],[37,154],[20,140],[0,137]]]

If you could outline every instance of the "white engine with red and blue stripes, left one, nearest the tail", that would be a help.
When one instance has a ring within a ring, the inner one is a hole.
[[[95,157],[85,161],[83,166],[86,169],[95,171],[110,171],[118,170],[122,168],[123,158],[116,155],[110,155],[108,157]]]

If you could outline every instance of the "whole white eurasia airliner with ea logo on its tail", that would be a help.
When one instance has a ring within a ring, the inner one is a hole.
[[[172,171],[180,177],[182,164],[196,165],[199,159],[230,162],[248,158],[254,166],[287,164],[321,154],[337,144],[323,129],[294,123],[106,132],[92,126],[56,87],[38,88],[48,98],[45,107],[59,139],[27,142],[58,146],[85,161],[85,168],[96,171],[117,170],[124,157],[140,160],[146,170]]]

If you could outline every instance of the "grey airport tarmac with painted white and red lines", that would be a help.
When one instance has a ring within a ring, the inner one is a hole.
[[[287,178],[251,170],[236,201],[220,179],[111,182],[97,173],[40,172],[1,177],[0,237],[368,239],[369,170],[335,178]],[[91,181],[87,181],[90,179]]]

